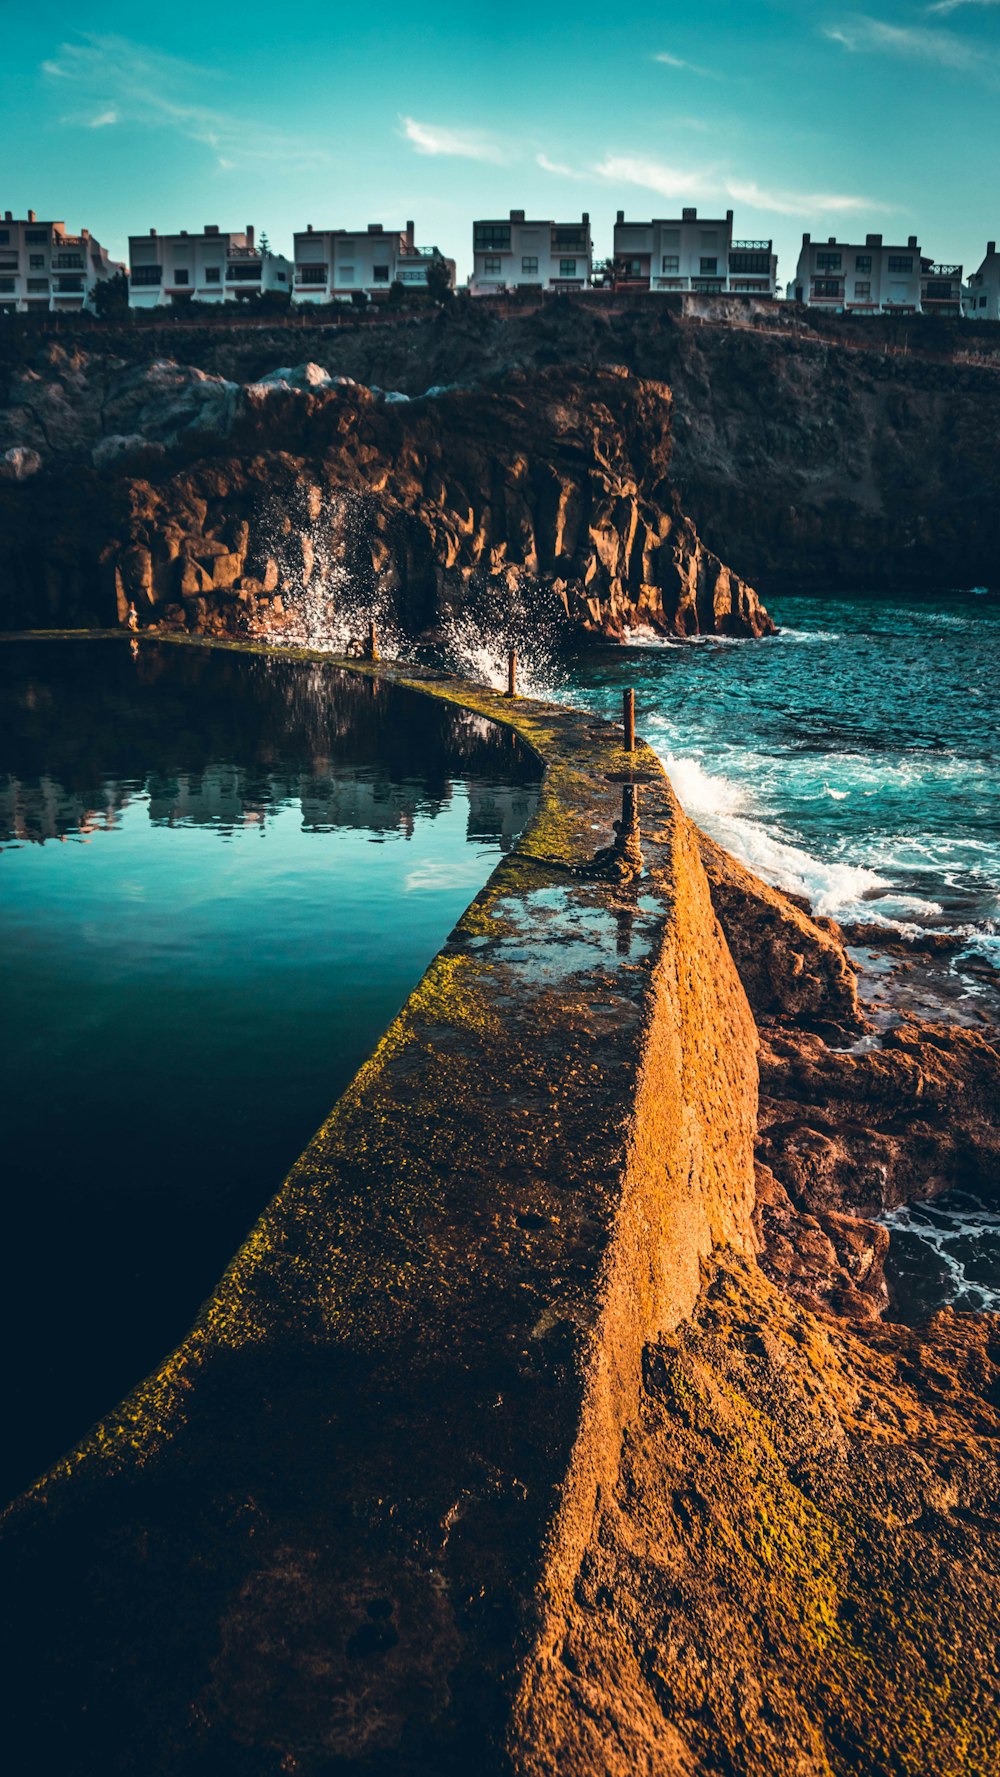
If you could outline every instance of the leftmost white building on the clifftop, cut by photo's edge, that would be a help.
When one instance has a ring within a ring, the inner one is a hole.
[[[124,272],[108,259],[105,247],[82,229],[67,235],[64,222],[39,222],[34,210],[14,220],[9,210],[0,222],[0,309],[27,315],[50,309],[94,306],[94,290],[105,277]]]

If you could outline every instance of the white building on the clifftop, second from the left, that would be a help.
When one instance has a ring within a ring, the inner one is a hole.
[[[179,307],[185,302],[238,302],[266,290],[291,290],[291,265],[281,254],[256,245],[254,229],[222,235],[208,224],[201,235],[128,236],[128,306],[131,309]]]

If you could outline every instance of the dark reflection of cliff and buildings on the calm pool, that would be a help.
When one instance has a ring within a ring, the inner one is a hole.
[[[0,844],[89,839],[135,803],[156,826],[222,835],[295,807],[307,832],[405,839],[462,784],[469,841],[508,849],[536,801],[536,762],[510,734],[414,691],[373,698],[350,673],[274,657],[25,649],[27,673],[21,649],[0,654]]]

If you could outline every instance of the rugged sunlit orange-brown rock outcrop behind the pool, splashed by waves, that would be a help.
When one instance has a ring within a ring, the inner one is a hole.
[[[671,400],[549,370],[387,400],[318,366],[258,384],[52,352],[0,412],[5,624],[213,634],[336,626],[345,586],[407,633],[528,583],[584,633],[773,629],[670,474]],[[2,453],[5,451],[5,458]]]

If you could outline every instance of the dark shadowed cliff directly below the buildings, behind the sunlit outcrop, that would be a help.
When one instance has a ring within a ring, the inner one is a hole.
[[[583,389],[618,364],[671,389],[671,485],[712,549],[762,594],[1000,583],[1000,345],[972,323],[813,318],[787,306],[751,327],[682,318],[668,300],[512,315],[456,302],[378,325],[174,325],[99,339],[137,368],[163,354],[247,384],[291,355],[410,396],[558,368]],[[36,363],[37,334],[0,341],[4,355],[11,389]]]

